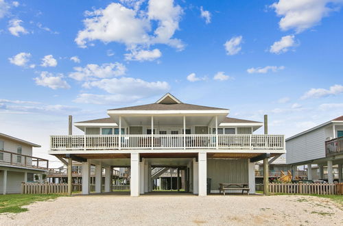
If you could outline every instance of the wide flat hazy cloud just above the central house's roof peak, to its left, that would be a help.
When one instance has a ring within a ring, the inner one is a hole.
[[[99,81],[87,81],[84,88],[97,87],[113,95],[134,95],[147,97],[158,95],[169,90],[166,81],[144,81],[132,77],[120,77],[112,79],[101,79]]]

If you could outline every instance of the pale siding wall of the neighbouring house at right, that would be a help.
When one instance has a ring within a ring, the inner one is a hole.
[[[292,140],[286,141],[287,164],[295,164],[325,157],[324,128],[310,131]]]

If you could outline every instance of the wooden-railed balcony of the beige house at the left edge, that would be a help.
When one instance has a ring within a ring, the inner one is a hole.
[[[47,170],[49,160],[0,150],[0,165]]]

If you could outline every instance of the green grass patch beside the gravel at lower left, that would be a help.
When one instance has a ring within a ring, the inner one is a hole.
[[[46,201],[56,199],[60,194],[5,194],[0,195],[0,213],[19,213],[27,211],[21,208],[35,201]]]

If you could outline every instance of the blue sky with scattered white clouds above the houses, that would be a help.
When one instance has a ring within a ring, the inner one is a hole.
[[[292,136],[343,113],[342,5],[0,0],[0,132],[47,158],[68,114],[105,117],[171,92],[232,117],[268,114],[270,133]]]

